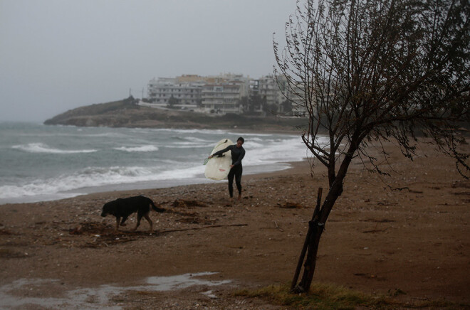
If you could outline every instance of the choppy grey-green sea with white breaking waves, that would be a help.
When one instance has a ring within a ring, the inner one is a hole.
[[[0,204],[223,182],[204,177],[204,159],[217,141],[238,137],[244,175],[288,169],[308,156],[300,134],[0,122]]]

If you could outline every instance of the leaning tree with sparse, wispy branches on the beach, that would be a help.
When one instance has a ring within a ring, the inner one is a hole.
[[[305,266],[298,292],[310,287],[320,236],[352,159],[385,173],[367,153],[369,144],[394,139],[412,159],[418,138],[427,137],[469,177],[458,130],[470,120],[469,15],[468,0],[298,1],[286,47],[274,42],[275,73],[286,77],[286,97],[308,115],[302,139],[327,167],[329,183],[310,222],[313,264]],[[320,134],[327,146],[318,144]],[[381,154],[387,159],[383,148]]]

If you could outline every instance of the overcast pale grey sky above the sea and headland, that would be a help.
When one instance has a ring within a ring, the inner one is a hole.
[[[147,93],[153,77],[273,73],[296,0],[0,0],[0,121]]]

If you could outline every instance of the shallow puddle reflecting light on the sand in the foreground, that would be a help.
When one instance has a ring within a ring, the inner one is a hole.
[[[181,274],[170,277],[148,277],[144,285],[135,287],[115,287],[101,285],[100,287],[74,289],[63,292],[57,297],[61,284],[56,279],[19,279],[11,284],[0,287],[0,309],[105,309],[117,310],[122,306],[113,305],[110,298],[127,291],[164,292],[177,289],[185,289],[194,285],[214,287],[229,284],[230,280],[211,281],[196,279],[216,272],[199,272],[194,274]],[[44,287],[54,287],[56,296],[43,296]],[[55,289],[57,287],[57,289]],[[211,291],[208,291],[214,298]],[[207,294],[208,292],[202,293]]]

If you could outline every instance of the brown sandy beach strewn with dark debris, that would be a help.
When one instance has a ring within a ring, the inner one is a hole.
[[[350,167],[314,282],[468,309],[470,181],[428,144],[414,161],[385,148],[391,178]],[[242,183],[239,202],[223,182],[0,205],[0,309],[286,309],[233,292],[291,281],[325,169],[303,161]],[[103,204],[137,195],[167,211],[150,213],[151,234],[145,220],[130,231],[135,215],[115,232]]]

